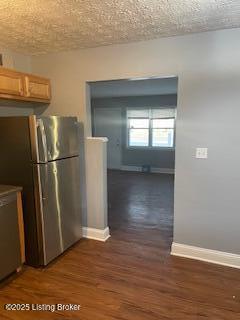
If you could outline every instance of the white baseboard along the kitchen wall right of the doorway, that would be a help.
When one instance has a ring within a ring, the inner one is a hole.
[[[201,260],[240,269],[240,255],[238,254],[188,246],[175,242],[172,244],[171,254],[173,256]]]

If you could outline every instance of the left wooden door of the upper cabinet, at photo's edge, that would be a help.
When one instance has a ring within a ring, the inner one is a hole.
[[[6,95],[23,96],[24,79],[20,72],[0,68],[0,93]]]

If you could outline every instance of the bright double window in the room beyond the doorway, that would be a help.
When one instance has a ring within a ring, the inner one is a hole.
[[[173,148],[175,109],[128,109],[128,146]]]

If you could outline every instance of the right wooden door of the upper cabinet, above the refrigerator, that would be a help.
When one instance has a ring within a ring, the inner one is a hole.
[[[50,101],[50,80],[32,75],[25,75],[25,96],[28,98]]]

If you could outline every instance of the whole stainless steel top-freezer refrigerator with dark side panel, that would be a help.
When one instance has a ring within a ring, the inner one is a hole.
[[[23,187],[29,265],[81,238],[79,144],[76,117],[0,118],[0,183]]]

